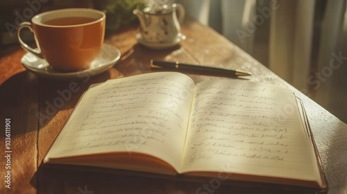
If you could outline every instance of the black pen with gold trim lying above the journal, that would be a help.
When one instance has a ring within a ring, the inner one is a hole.
[[[217,67],[208,67],[196,64],[185,64],[181,62],[167,62],[159,60],[151,60],[151,68],[155,69],[176,69],[189,71],[193,73],[216,73],[225,76],[251,76],[252,73],[240,69],[223,69]]]

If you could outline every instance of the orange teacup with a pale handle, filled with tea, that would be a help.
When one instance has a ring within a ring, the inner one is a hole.
[[[51,10],[35,15],[31,23],[19,24],[17,38],[22,48],[62,71],[78,71],[90,67],[101,51],[105,36],[105,13],[87,8]],[[37,49],[20,37],[29,28]]]

